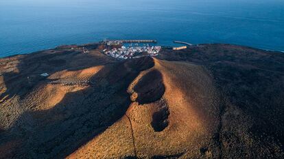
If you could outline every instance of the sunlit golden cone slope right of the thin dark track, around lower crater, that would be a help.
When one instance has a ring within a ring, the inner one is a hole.
[[[145,158],[185,151],[189,151],[187,156],[200,154],[200,148],[207,146],[218,124],[218,107],[213,102],[217,94],[209,75],[200,66],[157,59],[153,69],[163,74],[163,100],[169,107],[169,126],[162,132],[154,132],[150,126],[153,113],[161,107],[159,102],[132,104],[128,112],[131,112],[137,155]]]

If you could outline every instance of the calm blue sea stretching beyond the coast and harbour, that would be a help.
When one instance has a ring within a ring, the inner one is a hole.
[[[284,0],[0,0],[0,57],[104,39],[284,50]]]

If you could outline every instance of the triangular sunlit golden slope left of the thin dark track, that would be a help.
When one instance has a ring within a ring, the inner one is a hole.
[[[128,117],[124,116],[67,158],[123,158],[134,156],[132,140],[130,121]]]

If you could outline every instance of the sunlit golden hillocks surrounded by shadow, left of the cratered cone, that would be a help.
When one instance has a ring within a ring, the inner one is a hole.
[[[25,105],[32,107],[33,110],[43,111],[51,109],[56,106],[56,104],[60,103],[67,93],[81,91],[88,87],[88,85],[68,85],[69,81],[88,81],[102,68],[104,68],[104,66],[96,66],[76,71],[63,70],[51,74],[51,76],[49,76],[50,80],[61,80],[62,83],[47,83],[45,85],[39,85],[36,89],[34,89],[34,91],[32,91],[32,93],[27,95]],[[68,81],[65,82],[64,79]]]

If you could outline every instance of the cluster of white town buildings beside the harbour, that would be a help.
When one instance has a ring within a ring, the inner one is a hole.
[[[104,50],[108,56],[117,59],[131,59],[141,56],[156,56],[161,50],[161,46],[122,46],[121,48],[113,48],[112,50]]]

